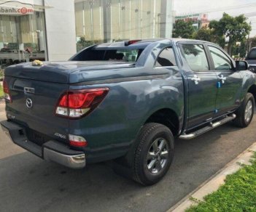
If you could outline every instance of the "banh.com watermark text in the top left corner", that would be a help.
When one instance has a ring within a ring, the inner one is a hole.
[[[26,4],[20,1],[5,1],[4,3],[0,3],[0,15],[30,14],[34,14],[33,4]]]

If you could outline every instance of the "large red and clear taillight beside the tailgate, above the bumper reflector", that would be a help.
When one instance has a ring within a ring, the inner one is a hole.
[[[102,102],[108,92],[108,88],[66,91],[61,95],[55,113],[68,118],[88,115]]]

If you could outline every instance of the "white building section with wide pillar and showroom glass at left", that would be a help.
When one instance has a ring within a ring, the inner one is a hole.
[[[1,68],[35,59],[68,60],[77,52],[74,0],[0,3]]]

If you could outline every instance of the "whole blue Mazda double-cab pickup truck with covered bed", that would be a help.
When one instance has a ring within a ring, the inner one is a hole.
[[[155,184],[174,157],[174,137],[193,139],[228,121],[246,127],[255,74],[216,44],[183,39],[120,41],[67,62],[28,62],[4,72],[15,144],[70,168],[115,161]]]

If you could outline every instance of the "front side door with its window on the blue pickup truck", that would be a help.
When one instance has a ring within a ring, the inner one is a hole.
[[[215,116],[220,116],[235,110],[240,105],[241,75],[235,71],[230,58],[220,49],[209,46],[214,71],[217,74],[219,88],[217,89]]]

